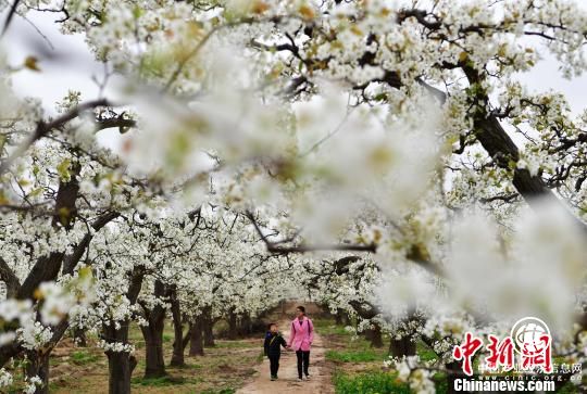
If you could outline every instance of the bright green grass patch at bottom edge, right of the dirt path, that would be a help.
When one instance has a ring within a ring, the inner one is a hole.
[[[337,394],[411,394],[408,384],[397,382],[396,374],[389,372],[337,372],[333,382]]]

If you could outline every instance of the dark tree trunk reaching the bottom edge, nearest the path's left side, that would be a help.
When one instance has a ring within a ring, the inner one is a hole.
[[[116,329],[114,323],[104,328],[105,338],[109,343],[128,344],[128,321],[121,323]],[[108,369],[110,372],[108,390],[110,394],[129,394],[130,377],[137,361],[128,352],[105,351],[108,356]]]

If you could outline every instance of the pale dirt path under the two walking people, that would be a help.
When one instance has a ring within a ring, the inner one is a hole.
[[[282,320],[279,328],[288,328],[289,320]],[[286,336],[288,330],[283,330]],[[325,348],[319,332],[314,332],[314,343],[310,353],[310,380],[298,382],[298,367],[296,361],[296,352],[283,351],[279,359],[279,379],[270,380],[268,358],[264,358],[257,367],[254,380],[237,391],[238,394],[333,394],[334,389],[330,379],[330,371],[326,368],[324,359]]]

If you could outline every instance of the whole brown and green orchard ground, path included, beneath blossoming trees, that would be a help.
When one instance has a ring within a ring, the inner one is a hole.
[[[287,339],[289,321],[296,302],[288,302],[265,316],[263,323],[277,321]],[[216,339],[214,347],[207,347],[204,356],[189,357],[182,368],[167,367],[167,376],[145,379],[145,340],[135,325],[130,330],[130,342],[135,344],[138,364],[133,372],[134,393],[198,393],[198,394],[261,394],[261,393],[311,393],[311,394],[396,394],[413,393],[397,376],[384,370],[383,361],[388,357],[389,338],[384,335],[384,347],[375,348],[363,335],[347,330],[346,325],[336,323],[335,317],[315,304],[305,304],[315,327],[316,339],[311,356],[311,380],[297,382],[296,355],[284,352],[279,368],[279,380],[268,379],[268,361],[263,357],[264,332],[254,332],[238,340]],[[352,321],[350,322],[352,326]],[[216,336],[222,336],[226,326],[215,325]],[[97,338],[88,338],[88,346],[74,344],[65,338],[51,356],[50,392],[104,393],[108,392],[108,360],[97,346]],[[171,359],[173,327],[165,326],[165,359]],[[417,344],[417,353],[424,360],[436,357],[424,343]],[[435,377],[437,393],[446,393],[445,377]],[[573,393],[569,387],[559,391]]]

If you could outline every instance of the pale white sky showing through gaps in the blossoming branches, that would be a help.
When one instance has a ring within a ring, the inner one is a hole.
[[[0,17],[3,21],[5,12]],[[13,86],[14,91],[23,97],[40,98],[48,114],[55,112],[55,102],[65,97],[70,89],[82,91],[85,100],[97,98],[99,86],[96,80],[102,80],[105,74],[103,65],[93,60],[84,37],[62,35],[53,17],[54,14],[40,12],[27,14],[28,21],[16,16],[0,41],[12,66],[23,64],[28,55],[39,59],[41,72],[18,72],[13,76]],[[532,72],[521,74],[520,80],[533,92],[563,92],[575,114],[587,109],[587,75],[566,80],[559,73],[557,61],[546,51],[542,55],[544,60]],[[64,62],[67,64],[66,69],[63,68]],[[105,96],[115,99],[115,90],[107,87]],[[100,134],[100,142],[116,150],[116,136],[115,129],[104,130]]]

